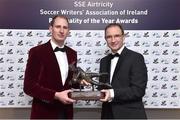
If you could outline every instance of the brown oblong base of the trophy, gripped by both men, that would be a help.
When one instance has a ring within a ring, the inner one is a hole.
[[[69,97],[74,100],[99,100],[103,99],[105,94],[100,91],[74,91]]]

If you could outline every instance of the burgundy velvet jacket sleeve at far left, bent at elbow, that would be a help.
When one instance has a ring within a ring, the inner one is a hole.
[[[54,100],[55,91],[45,88],[38,83],[41,69],[43,68],[37,52],[31,49],[25,70],[24,92],[42,101],[52,102]]]

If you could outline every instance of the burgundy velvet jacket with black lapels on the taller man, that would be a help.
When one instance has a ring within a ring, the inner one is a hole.
[[[69,64],[76,64],[77,53],[67,47],[66,53]],[[29,51],[29,58],[25,71],[24,92],[33,97],[31,118],[56,119],[62,111],[73,117],[73,105],[64,105],[54,99],[55,92],[70,89],[69,81],[72,71],[69,71],[63,86],[60,68],[53,48],[48,41]]]

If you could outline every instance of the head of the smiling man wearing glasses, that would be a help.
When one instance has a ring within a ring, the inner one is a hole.
[[[109,27],[106,30],[105,39],[108,47],[116,53],[124,44],[124,35],[118,26]]]

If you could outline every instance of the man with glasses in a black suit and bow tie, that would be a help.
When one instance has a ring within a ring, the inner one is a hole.
[[[101,59],[100,72],[109,73],[100,82],[111,83],[103,89],[102,119],[146,119],[142,97],[147,84],[147,68],[140,53],[124,46],[124,30],[112,23],[105,28],[105,39],[112,53]]]

